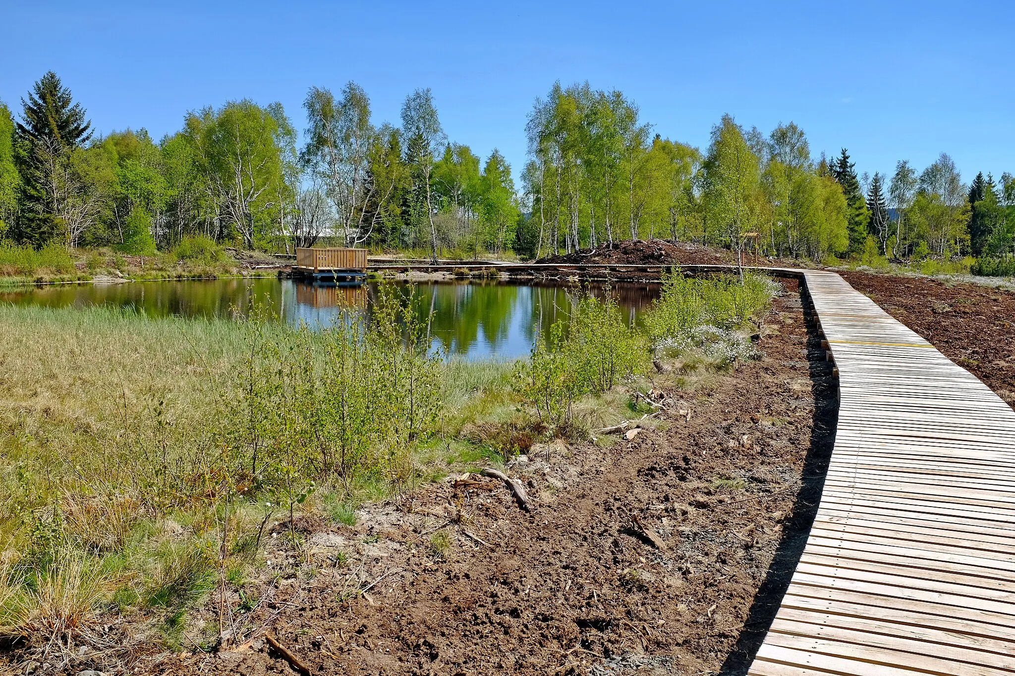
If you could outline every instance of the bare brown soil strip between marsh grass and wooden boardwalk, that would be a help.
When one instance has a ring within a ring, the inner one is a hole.
[[[763,357],[674,389],[659,429],[609,447],[535,446],[500,481],[450,477],[367,506],[355,526],[277,527],[257,606],[230,595],[230,645],[150,655],[135,673],[743,674],[820,497],[834,385],[797,283]],[[689,410],[690,415],[681,415]],[[214,599],[199,620],[217,622]],[[228,619],[228,617],[227,617]]]

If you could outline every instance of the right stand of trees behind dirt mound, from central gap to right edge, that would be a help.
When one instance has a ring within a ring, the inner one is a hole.
[[[918,173],[858,175],[811,156],[792,122],[767,136],[730,116],[697,148],[653,134],[619,91],[555,84],[526,127],[523,172],[538,253],[662,237],[816,260],[1001,255],[1015,245],[1015,178],[961,181],[948,155]]]

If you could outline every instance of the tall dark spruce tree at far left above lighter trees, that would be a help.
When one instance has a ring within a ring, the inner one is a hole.
[[[74,103],[70,89],[56,73],[46,73],[27,99],[17,123],[17,163],[22,180],[23,210],[14,236],[33,246],[43,246],[58,237],[60,224],[47,199],[47,156],[66,157],[91,138],[91,123],[80,103]]]

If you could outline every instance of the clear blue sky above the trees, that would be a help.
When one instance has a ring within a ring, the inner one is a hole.
[[[284,6],[283,6],[284,4]],[[355,80],[376,123],[430,87],[449,137],[516,178],[525,118],[554,80],[622,90],[664,137],[704,148],[724,112],[794,121],[858,171],[949,153],[968,181],[1015,173],[1010,3],[114,3],[5,0],[0,99],[55,70],[103,133],[181,127],[186,110],[281,101]],[[40,42],[45,35],[45,43]]]

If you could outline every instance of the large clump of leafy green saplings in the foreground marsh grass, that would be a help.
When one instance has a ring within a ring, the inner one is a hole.
[[[322,472],[346,486],[366,474],[406,487],[442,409],[441,361],[411,303],[382,289],[369,324],[350,318],[319,333],[252,319],[241,396],[228,404],[232,473],[290,506]]]

